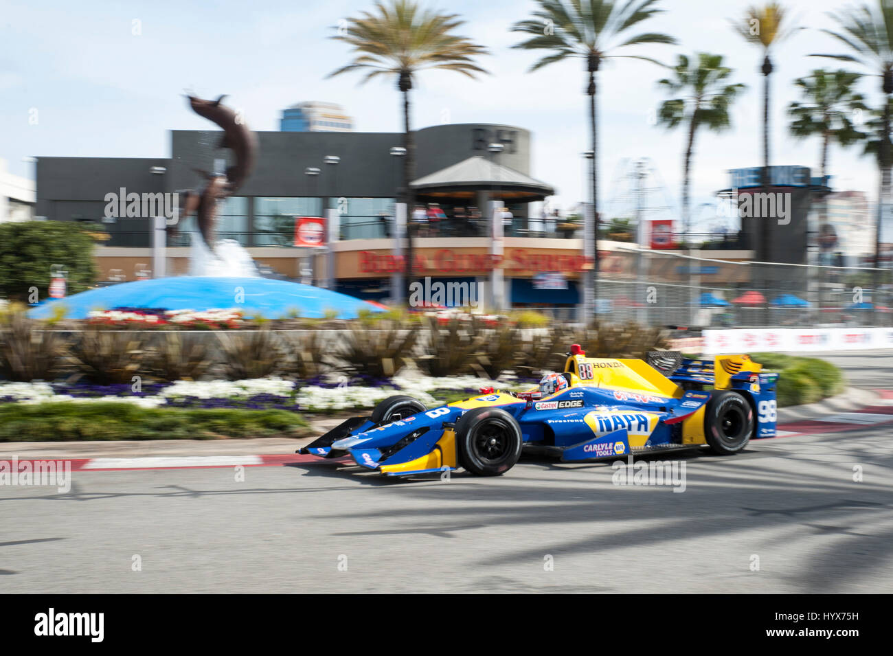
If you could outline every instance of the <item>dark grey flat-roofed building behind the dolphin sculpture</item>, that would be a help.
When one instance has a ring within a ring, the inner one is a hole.
[[[391,154],[403,135],[388,132],[258,132],[255,171],[238,196],[221,203],[218,233],[246,246],[290,245],[295,216],[342,214],[344,238],[384,237],[380,219],[392,212],[403,161]],[[221,132],[172,130],[170,159],[39,157],[35,214],[47,220],[104,222],[109,246],[147,247],[149,218],[109,217],[109,196],[173,194],[202,186],[199,171],[222,171],[229,152],[217,148]],[[495,195],[513,212],[517,234],[527,228],[528,203],[554,193],[530,179],[530,132],[495,124],[439,125],[415,132],[416,175],[421,179],[474,156],[486,158],[497,179]],[[503,145],[492,153],[488,145]],[[336,155],[337,164],[325,158]],[[319,170],[307,175],[308,169]],[[478,167],[480,170],[480,166]],[[486,177],[485,177],[486,178]],[[477,183],[477,184],[471,184]],[[447,218],[480,204],[475,191],[493,181],[464,181],[463,193],[433,190],[420,199],[437,201]],[[429,186],[430,187],[430,186]],[[446,225],[446,221],[444,225]],[[181,228],[188,229],[187,225]],[[351,232],[353,231],[353,235]],[[169,245],[185,245],[183,231]]]

